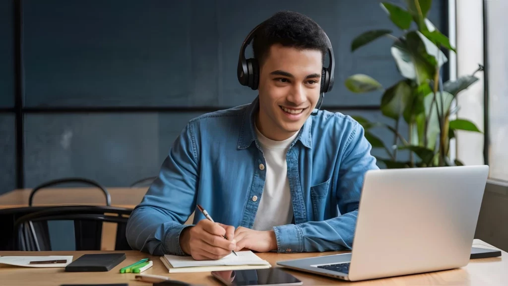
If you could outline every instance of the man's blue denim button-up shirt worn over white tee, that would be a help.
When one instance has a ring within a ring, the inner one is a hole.
[[[129,218],[133,249],[185,255],[179,236],[197,204],[215,222],[252,228],[266,178],[254,125],[258,110],[256,98],[188,122]],[[377,169],[370,150],[362,126],[349,116],[321,110],[306,120],[287,152],[294,218],[273,227],[278,252],[352,248],[363,177]],[[201,219],[197,210],[194,224]]]

